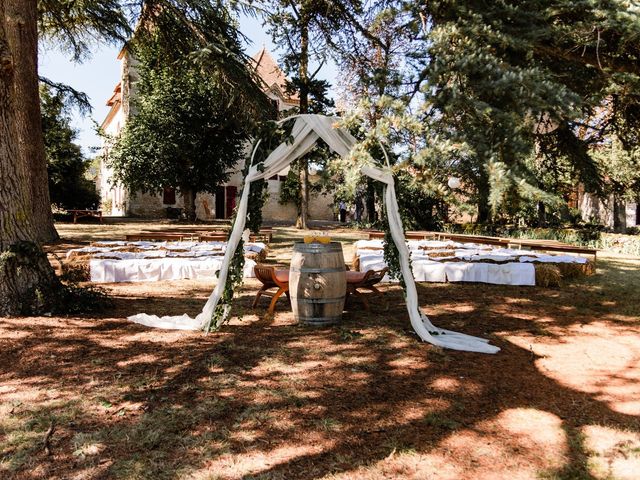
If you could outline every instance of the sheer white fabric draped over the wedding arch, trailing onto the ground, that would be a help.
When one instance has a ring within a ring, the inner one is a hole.
[[[294,118],[295,124],[291,130],[293,142],[291,144],[280,144],[264,161],[264,170],[262,172],[258,170],[257,166],[252,166],[245,177],[242,197],[238,204],[236,220],[227,243],[227,250],[222,261],[222,267],[220,268],[218,283],[202,309],[202,312],[196,316],[196,318],[191,318],[186,314],[177,317],[158,317],[156,315],[140,313],[129,317],[129,320],[158,328],[182,330],[207,329],[212,321],[214,309],[222,296],[227,281],[231,258],[240,242],[246,225],[249,186],[251,182],[269,178],[277,174],[291,162],[311,150],[318,138],[324,140],[329,148],[343,157],[347,156],[351,148],[356,144],[356,139],[353,138],[348,131],[341,128],[334,128],[334,124],[338,120],[337,118],[326,117],[324,115],[297,115],[281,120],[279,123]],[[255,151],[256,149],[254,149],[251,158],[252,164]],[[402,221],[400,219],[400,213],[398,212],[393,176],[390,171],[385,172],[371,166],[363,167],[362,173],[385,184],[387,216],[393,241],[400,253],[400,266],[406,285],[407,310],[411,319],[411,325],[418,336],[426,342],[444,348],[482,353],[498,352],[500,349],[489,345],[488,340],[435,327],[427,316],[420,311],[420,307],[418,306],[418,293],[409,264],[409,249],[407,248]],[[227,313],[228,312],[225,312],[225,317]]]

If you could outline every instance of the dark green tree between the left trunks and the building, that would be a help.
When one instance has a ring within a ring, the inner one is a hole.
[[[40,110],[51,203],[60,209],[95,208],[100,199],[95,183],[86,178],[91,162],[74,143],[76,132],[70,126],[63,94],[53,94],[43,85]]]

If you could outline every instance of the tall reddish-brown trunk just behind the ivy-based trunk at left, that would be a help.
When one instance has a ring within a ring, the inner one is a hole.
[[[38,83],[37,0],[2,0],[6,5],[6,39],[13,57],[16,134],[21,161],[28,166],[31,215],[35,240],[58,238],[53,225],[47,160],[42,137]]]

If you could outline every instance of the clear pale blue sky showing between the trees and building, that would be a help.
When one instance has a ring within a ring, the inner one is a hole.
[[[253,55],[264,44],[278,59],[279,52],[275,49],[271,38],[264,32],[260,20],[242,17],[240,31],[252,42],[245,46],[245,51],[249,55]],[[72,125],[78,130],[77,142],[89,157],[95,156],[92,149],[101,144],[100,137],[95,133],[96,124],[102,123],[106,117],[109,111],[106,101],[120,78],[120,61],[117,59],[119,51],[120,46],[96,46],[89,59],[83,63],[74,63],[68,55],[57,49],[46,45],[40,48],[40,75],[55,82],[70,85],[89,97],[93,107],[91,115],[82,117],[74,112],[72,118]],[[335,83],[335,65],[325,66],[319,76],[332,84]]]

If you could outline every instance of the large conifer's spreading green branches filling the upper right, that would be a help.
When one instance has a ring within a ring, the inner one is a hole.
[[[425,183],[460,177],[480,221],[513,220],[566,209],[578,182],[606,194],[595,152],[614,136],[637,145],[639,15],[624,2],[373,2],[334,45],[365,141]]]

